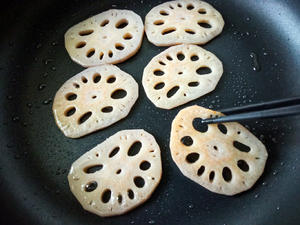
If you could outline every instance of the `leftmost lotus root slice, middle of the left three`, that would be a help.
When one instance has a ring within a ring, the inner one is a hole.
[[[138,84],[114,65],[85,69],[57,91],[53,113],[70,138],[105,128],[126,117],[138,98]]]

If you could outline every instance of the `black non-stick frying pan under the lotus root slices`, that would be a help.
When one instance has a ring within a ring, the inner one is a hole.
[[[139,83],[129,116],[101,131],[69,139],[55,125],[51,106],[58,88],[83,68],[64,49],[72,25],[110,8],[142,18],[161,1],[6,1],[1,4],[0,196],[1,224],[299,224],[299,117],[243,123],[266,145],[265,172],[253,188],[228,197],[185,178],[171,159],[169,134],[178,111],[198,104],[220,110],[300,94],[300,2],[210,1],[224,17],[222,34],[204,46],[224,64],[215,91],[173,110],[146,98],[143,68],[165,48],[143,40],[118,66]],[[260,70],[253,70],[251,53]],[[161,147],[163,176],[149,201],[128,214],[101,218],[85,212],[71,194],[74,160],[123,129],[143,128]]]

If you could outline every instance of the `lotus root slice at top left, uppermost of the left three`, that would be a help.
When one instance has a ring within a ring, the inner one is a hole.
[[[143,34],[139,15],[112,9],[71,27],[65,34],[65,46],[72,60],[84,67],[115,64],[138,51]]]

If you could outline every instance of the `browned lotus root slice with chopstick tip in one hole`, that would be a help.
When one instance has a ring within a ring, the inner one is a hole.
[[[196,105],[181,110],[172,122],[170,149],[186,177],[212,192],[234,195],[254,185],[268,153],[239,123],[201,123],[221,115]]]

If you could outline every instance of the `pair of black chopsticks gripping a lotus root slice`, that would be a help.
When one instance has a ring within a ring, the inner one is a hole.
[[[204,124],[275,118],[300,114],[300,97],[221,110],[229,114],[202,120]]]

